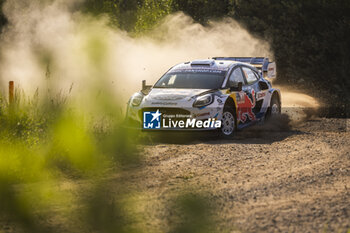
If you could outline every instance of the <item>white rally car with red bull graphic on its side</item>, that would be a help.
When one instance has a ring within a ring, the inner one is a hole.
[[[281,93],[269,79],[276,65],[264,57],[215,57],[172,67],[129,100],[126,119],[142,130],[238,129],[281,113]]]

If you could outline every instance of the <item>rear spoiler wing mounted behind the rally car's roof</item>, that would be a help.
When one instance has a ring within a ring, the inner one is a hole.
[[[260,70],[266,78],[276,78],[276,63],[267,57],[213,57],[214,60],[238,61],[251,64]]]

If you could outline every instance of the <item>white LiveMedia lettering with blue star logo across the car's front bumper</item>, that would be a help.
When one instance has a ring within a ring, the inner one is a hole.
[[[207,114],[207,113],[205,113]],[[162,115],[156,112],[143,112],[143,129],[215,129],[221,128],[221,121],[215,118],[198,120],[189,115]]]

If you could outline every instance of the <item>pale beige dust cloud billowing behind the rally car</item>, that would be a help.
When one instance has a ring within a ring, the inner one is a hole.
[[[88,105],[101,93],[125,104],[175,64],[214,56],[268,56],[266,41],[233,19],[195,23],[183,13],[166,17],[143,36],[109,26],[107,17],[81,13],[80,1],[22,1],[4,4],[8,26],[0,37],[0,87],[15,81],[26,95],[60,93]],[[283,104],[314,103],[282,90]]]

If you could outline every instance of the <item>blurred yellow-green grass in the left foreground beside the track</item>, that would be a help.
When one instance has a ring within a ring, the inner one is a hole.
[[[44,99],[21,92],[12,105],[1,99],[0,232],[144,232],[140,219],[147,218],[135,215],[136,203],[126,201],[134,191],[125,187],[142,169],[142,153],[123,117],[111,115],[111,104],[118,104],[99,103],[97,117],[77,111],[68,98]],[[207,232],[209,221],[196,214],[205,203],[176,194],[169,229],[193,232],[198,225],[196,232]]]

